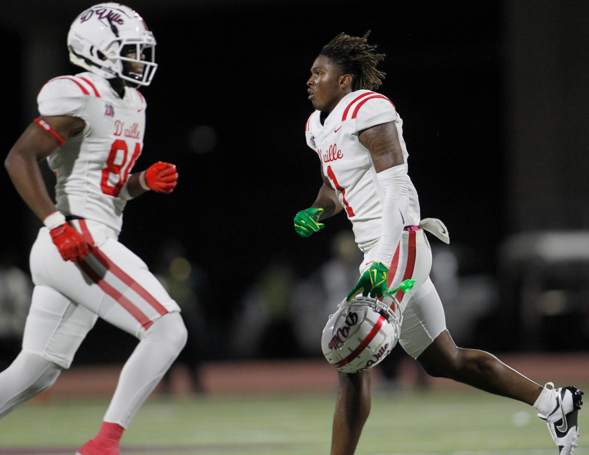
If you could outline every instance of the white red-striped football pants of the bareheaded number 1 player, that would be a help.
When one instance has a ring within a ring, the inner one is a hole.
[[[377,247],[378,243],[366,251],[360,275],[372,264],[371,257]],[[446,330],[444,307],[429,279],[431,268],[432,251],[425,231],[403,231],[391,263],[387,287],[395,289],[405,280],[415,280],[407,294],[399,290],[395,295],[403,314],[399,344],[413,358],[418,358]]]

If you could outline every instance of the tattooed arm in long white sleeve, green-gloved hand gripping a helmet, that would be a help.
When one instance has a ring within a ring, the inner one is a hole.
[[[389,267],[401,240],[408,205],[407,170],[395,122],[360,131],[359,140],[370,152],[385,200],[373,263],[350,291],[348,300],[360,293],[370,297],[380,297],[385,293]]]

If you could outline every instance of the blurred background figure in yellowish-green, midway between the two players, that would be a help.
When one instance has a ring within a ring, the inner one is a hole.
[[[290,264],[275,260],[252,285],[234,321],[232,352],[239,357],[283,358],[300,354],[289,308],[294,273]]]

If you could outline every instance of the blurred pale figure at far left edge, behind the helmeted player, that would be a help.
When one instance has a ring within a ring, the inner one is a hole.
[[[16,252],[8,246],[0,256],[0,371],[21,350],[33,292],[31,278],[15,263]]]

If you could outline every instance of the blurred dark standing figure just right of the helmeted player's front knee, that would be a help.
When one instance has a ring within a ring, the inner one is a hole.
[[[207,335],[207,315],[201,306],[204,271],[186,258],[184,246],[177,240],[169,239],[161,248],[160,265],[155,274],[170,297],[182,310],[182,319],[188,331],[186,346],[176,363],[186,366],[191,379],[191,391],[200,392],[198,379],[200,364],[205,360],[210,337]],[[163,378],[164,387],[170,388],[170,371]]]

